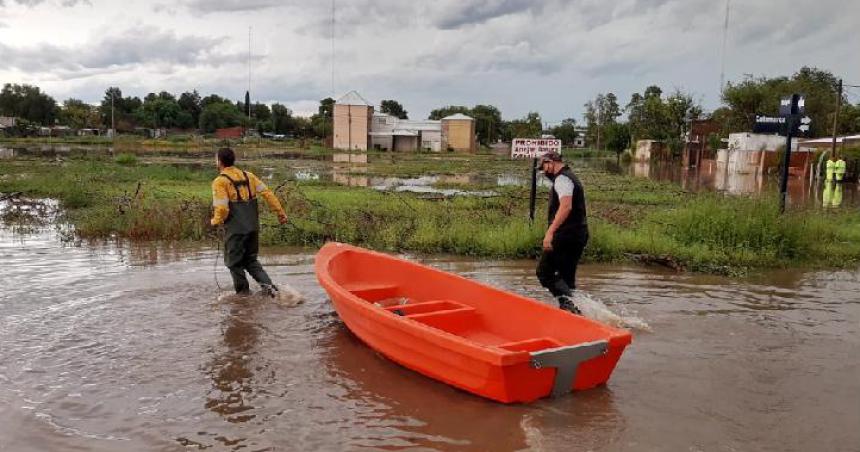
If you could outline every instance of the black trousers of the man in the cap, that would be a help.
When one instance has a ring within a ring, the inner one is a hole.
[[[557,238],[552,251],[541,254],[537,277],[554,297],[570,296],[576,290],[576,267],[587,243],[587,232],[576,238]]]

